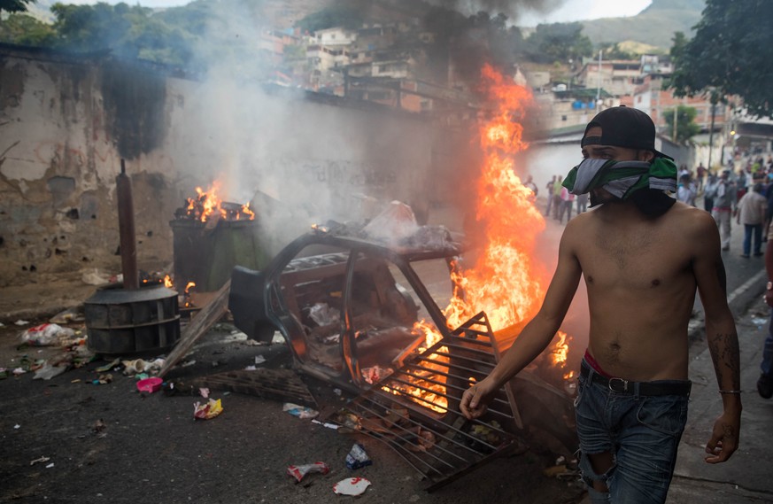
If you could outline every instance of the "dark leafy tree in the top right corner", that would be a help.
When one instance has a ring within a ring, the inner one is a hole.
[[[773,117],[770,19],[769,0],[707,0],[692,40],[674,38],[676,96],[737,95],[749,113]]]

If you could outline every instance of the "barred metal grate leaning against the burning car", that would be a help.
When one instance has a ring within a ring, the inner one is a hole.
[[[352,399],[350,416],[359,432],[390,446],[427,477],[431,492],[514,447],[508,430],[522,423],[509,384],[482,418],[468,421],[459,411],[469,384],[488,376],[498,361],[497,342],[481,312]]]

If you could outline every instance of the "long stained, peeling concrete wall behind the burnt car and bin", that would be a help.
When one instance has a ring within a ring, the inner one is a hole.
[[[452,181],[467,159],[468,141],[453,135],[332,97],[267,94],[238,75],[192,81],[3,46],[0,286],[120,273],[120,159],[133,183],[138,265],[151,271],[169,267],[169,221],[196,186],[221,182],[220,198],[239,203],[267,195],[275,250],[314,221],[439,198],[430,180]]]

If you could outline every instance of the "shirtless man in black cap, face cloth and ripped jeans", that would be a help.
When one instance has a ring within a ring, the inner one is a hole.
[[[607,109],[588,124],[584,162],[564,185],[590,191],[591,206],[600,206],[568,222],[539,312],[460,404],[469,419],[485,413],[499,387],[551,342],[583,275],[591,324],[576,423],[591,502],[666,500],[691,388],[687,323],[696,289],[723,398],[705,460],[726,461],[738,448],[738,335],[719,234],[711,215],[663,192],[676,190],[676,165],[655,151],[654,136],[653,121],[634,108]]]

